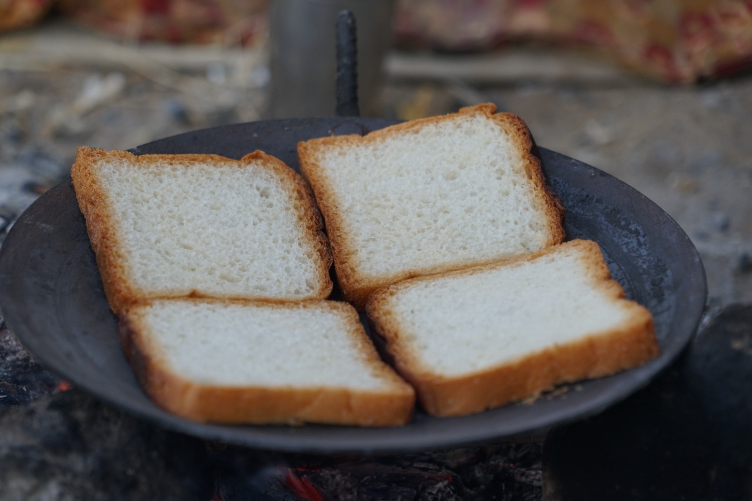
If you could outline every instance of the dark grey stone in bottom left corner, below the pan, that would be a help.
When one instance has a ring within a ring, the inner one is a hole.
[[[0,407],[0,499],[211,499],[202,441],[77,390]]]

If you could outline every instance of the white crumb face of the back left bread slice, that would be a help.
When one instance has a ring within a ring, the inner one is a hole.
[[[116,158],[96,168],[135,288],[284,298],[320,288],[320,258],[290,183],[261,161]]]

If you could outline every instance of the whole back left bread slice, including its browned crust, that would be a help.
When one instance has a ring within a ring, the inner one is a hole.
[[[71,177],[116,313],[154,297],[305,300],[332,291],[313,193],[271,155],[83,147]]]

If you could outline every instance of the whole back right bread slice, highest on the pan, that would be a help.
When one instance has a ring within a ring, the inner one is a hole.
[[[562,242],[528,128],[493,104],[299,143],[344,296]]]

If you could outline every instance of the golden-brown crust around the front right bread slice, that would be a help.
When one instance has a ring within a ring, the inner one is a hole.
[[[384,339],[397,372],[415,387],[426,412],[437,416],[483,412],[540,394],[559,383],[608,376],[644,364],[660,354],[652,315],[643,306],[624,298],[623,288],[611,279],[598,244],[590,240],[574,240],[531,255],[441,276],[466,276],[499,267],[515,266],[567,247],[581,249],[593,284],[606,297],[622,303],[629,311],[629,318],[614,329],[593,333],[574,343],[552,346],[511,363],[476,373],[456,377],[433,373],[421,363],[411,343],[402,337],[399,319],[390,312],[388,300],[391,296],[417,282],[428,282],[438,276],[423,276],[399,282],[371,296],[367,306],[371,324]]]

